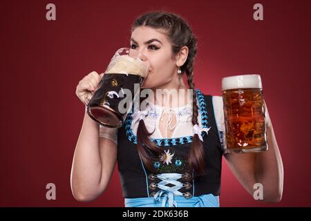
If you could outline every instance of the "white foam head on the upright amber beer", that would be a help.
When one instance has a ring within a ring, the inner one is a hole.
[[[261,75],[236,75],[222,79],[221,90],[238,88],[263,88]]]

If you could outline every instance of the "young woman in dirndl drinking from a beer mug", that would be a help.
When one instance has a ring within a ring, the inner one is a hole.
[[[222,97],[195,89],[197,48],[191,28],[178,15],[149,12],[133,23],[131,48],[150,62],[142,88],[155,94],[156,89],[185,90],[187,99],[171,102],[169,93],[161,98],[170,102],[148,97],[147,108],[129,114],[118,129],[99,126],[85,113],[71,172],[74,197],[97,198],[117,162],[125,206],[219,206],[223,103]],[[85,95],[95,90],[102,76],[92,72],[79,81],[76,94],[84,104]],[[283,164],[268,113],[266,119],[269,151],[225,154],[225,159],[249,194],[261,183],[263,200],[279,202]]]

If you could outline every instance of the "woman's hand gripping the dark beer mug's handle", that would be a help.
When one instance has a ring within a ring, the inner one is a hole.
[[[90,102],[94,90],[97,88],[98,84],[100,84],[103,76],[104,73],[99,75],[96,71],[92,71],[79,81],[75,94],[83,104],[87,105],[88,102]]]

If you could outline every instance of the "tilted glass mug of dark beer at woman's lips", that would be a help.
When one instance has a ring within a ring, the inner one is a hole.
[[[140,88],[148,71],[147,57],[138,50],[131,48],[117,50],[86,106],[88,115],[102,126],[120,128],[140,92],[134,90],[135,84]],[[131,92],[131,97],[124,97],[126,90]],[[126,107],[119,105],[125,98],[130,99],[130,104],[127,103],[129,105]]]

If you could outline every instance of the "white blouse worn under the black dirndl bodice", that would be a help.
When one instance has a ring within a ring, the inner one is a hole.
[[[212,96],[212,103],[214,108],[214,115],[216,119],[216,124],[218,128],[218,133],[223,133],[225,137],[225,123],[224,123],[224,115],[223,115],[223,97],[221,96]],[[187,137],[194,135],[194,126],[191,123],[192,117],[192,108],[191,104],[187,104],[185,106],[180,106],[177,108],[166,108],[163,106],[159,106],[149,102],[149,106],[147,106],[147,115],[144,118],[144,124],[149,132],[154,130],[154,133],[150,136],[151,139],[164,139],[171,137]],[[168,113],[168,121],[166,122],[166,127],[173,130],[173,134],[171,137],[162,136],[160,132],[160,121],[162,120],[162,113]],[[173,115],[176,116],[176,124],[172,125],[171,120],[173,119]],[[131,129],[133,134],[136,135],[138,129],[139,119],[133,119],[131,124]],[[198,124],[201,124],[201,115],[200,111],[198,112]],[[108,138],[117,144],[117,128],[108,128],[106,126],[100,125],[100,137]],[[223,138],[220,138],[220,142],[223,142]]]

